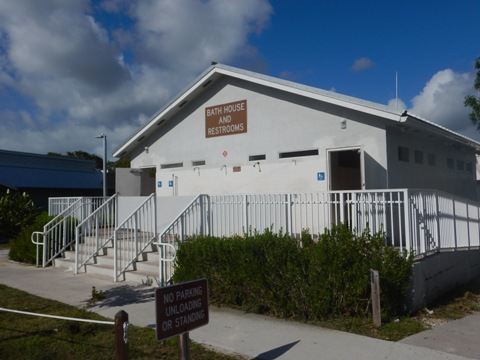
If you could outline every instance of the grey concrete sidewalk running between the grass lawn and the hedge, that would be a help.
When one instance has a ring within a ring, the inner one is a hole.
[[[39,269],[8,261],[6,251],[0,251],[0,283],[74,306],[85,306],[95,286],[106,296],[91,311],[113,319],[118,311],[124,310],[131,324],[155,327],[155,289],[152,287],[113,283],[109,279],[74,275],[57,268]],[[388,342],[239,311],[211,307],[209,312],[209,324],[192,331],[190,338],[250,359],[480,358],[478,314],[401,342]]]

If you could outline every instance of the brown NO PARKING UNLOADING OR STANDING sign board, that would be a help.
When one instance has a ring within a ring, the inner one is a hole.
[[[157,340],[208,324],[208,282],[199,279],[155,291]]]

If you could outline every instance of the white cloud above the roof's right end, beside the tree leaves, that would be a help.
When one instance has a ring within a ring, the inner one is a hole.
[[[473,92],[473,74],[450,69],[437,72],[412,99],[410,112],[473,139],[479,134],[468,118],[464,98]]]

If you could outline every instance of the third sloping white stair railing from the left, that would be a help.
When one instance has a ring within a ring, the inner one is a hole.
[[[114,281],[125,271],[136,269],[142,253],[157,239],[156,194],[150,195],[125,221],[115,228]]]

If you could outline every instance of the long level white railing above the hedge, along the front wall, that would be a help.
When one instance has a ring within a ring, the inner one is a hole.
[[[404,198],[405,190],[209,196],[209,234],[229,236],[268,228],[291,236],[308,230],[315,236],[345,223],[358,232],[384,231],[392,244],[402,246],[402,229],[396,225],[405,223]]]

